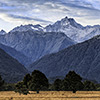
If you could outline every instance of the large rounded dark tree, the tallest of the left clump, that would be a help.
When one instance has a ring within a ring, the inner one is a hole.
[[[32,72],[31,77],[32,79],[29,83],[30,90],[37,91],[37,93],[39,93],[39,90],[48,89],[49,86],[48,79],[42,72],[34,70]]]

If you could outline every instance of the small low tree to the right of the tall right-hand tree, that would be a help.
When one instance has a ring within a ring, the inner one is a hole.
[[[84,81],[84,90],[86,91],[94,91],[96,90],[96,85],[91,81]]]

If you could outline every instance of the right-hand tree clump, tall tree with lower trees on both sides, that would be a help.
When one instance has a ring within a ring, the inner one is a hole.
[[[91,81],[82,81],[80,75],[70,71],[63,80],[56,79],[52,84],[53,90],[56,91],[93,91],[97,90],[96,84]]]

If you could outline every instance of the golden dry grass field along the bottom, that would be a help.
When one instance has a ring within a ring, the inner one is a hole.
[[[100,100],[99,91],[78,91],[73,94],[66,91],[41,91],[39,94],[31,92],[19,95],[15,92],[0,92],[0,100]]]

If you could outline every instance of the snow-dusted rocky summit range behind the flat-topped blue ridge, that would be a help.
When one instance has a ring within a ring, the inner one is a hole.
[[[94,26],[82,26],[81,24],[77,23],[73,18],[65,17],[54,24],[47,25],[43,27],[39,24],[37,25],[21,25],[15,27],[10,32],[23,32],[23,31],[44,31],[44,32],[63,32],[67,35],[70,39],[76,42],[83,42],[92,38],[93,36],[100,34],[100,25]]]

